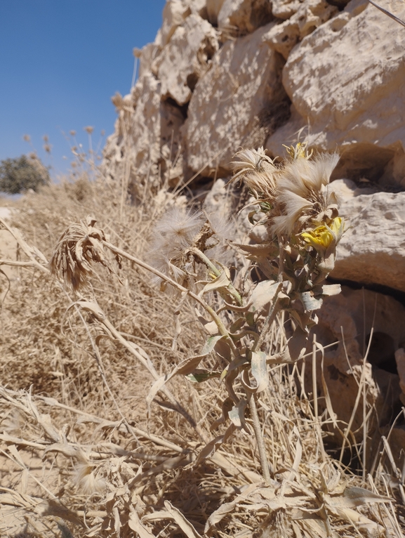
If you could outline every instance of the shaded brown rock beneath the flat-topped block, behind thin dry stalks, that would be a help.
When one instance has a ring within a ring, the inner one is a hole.
[[[328,346],[324,358],[324,376],[338,419],[350,420],[357,398],[362,361],[373,328],[371,350],[366,363],[368,399],[376,405],[381,424],[390,418],[391,405],[384,408],[385,398],[399,403],[399,377],[395,370],[395,351],[405,341],[405,308],[390,296],[369,290],[353,290],[343,286],[342,293],[324,300],[317,311],[317,341]],[[341,327],[344,328],[342,341]],[[347,353],[347,356],[346,356]],[[307,358],[306,390],[311,391],[312,357]],[[317,379],[321,388],[321,357],[317,361]],[[389,394],[387,395],[387,393]],[[323,393],[323,392],[322,392]],[[344,398],[343,396],[344,395]],[[352,431],[363,420],[361,406],[357,410]],[[376,426],[376,425],[374,425]]]

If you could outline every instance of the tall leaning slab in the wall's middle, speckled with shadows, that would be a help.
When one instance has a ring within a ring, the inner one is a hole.
[[[226,176],[239,145],[262,145],[286,94],[282,61],[263,43],[273,22],[228,40],[192,95],[185,122],[187,162],[192,171]],[[270,126],[269,126],[270,125]]]

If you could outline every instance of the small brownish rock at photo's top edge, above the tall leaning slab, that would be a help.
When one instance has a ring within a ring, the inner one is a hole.
[[[218,28],[249,34],[270,20],[270,0],[225,0],[218,13]]]

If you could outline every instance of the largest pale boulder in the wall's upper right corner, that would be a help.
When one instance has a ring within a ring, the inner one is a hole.
[[[400,0],[387,8],[405,18]],[[270,154],[280,155],[282,144],[307,128],[311,147],[347,152],[353,173],[376,166],[382,172],[395,157],[392,172],[400,182],[405,176],[403,30],[366,1],[352,0],[293,48],[283,84],[300,122],[294,117],[293,125],[270,136]]]

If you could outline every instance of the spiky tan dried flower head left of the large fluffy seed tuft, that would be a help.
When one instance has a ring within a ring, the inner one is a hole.
[[[239,161],[231,163],[235,172],[231,182],[243,179],[256,198],[265,199],[271,204],[277,192],[279,169],[272,159],[267,157],[263,147],[258,150],[241,150],[235,157],[238,157]]]

